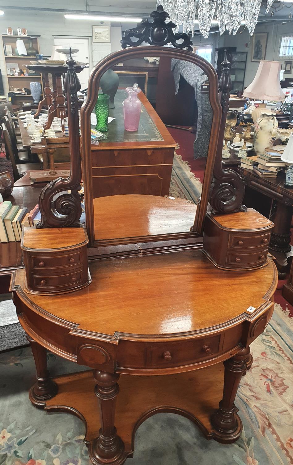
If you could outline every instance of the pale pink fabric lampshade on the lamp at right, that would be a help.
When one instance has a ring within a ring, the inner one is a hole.
[[[280,70],[280,61],[261,60],[255,79],[243,91],[243,97],[275,102],[283,100],[285,93],[280,86]]]

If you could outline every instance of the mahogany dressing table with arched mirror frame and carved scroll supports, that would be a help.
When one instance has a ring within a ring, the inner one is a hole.
[[[218,94],[217,74],[191,53],[189,35],[173,33],[175,25],[165,23],[168,15],[162,7],[151,18],[126,31],[121,41],[125,50],[98,63],[89,79],[81,111],[86,231],[79,223],[80,85],[74,60],[67,60],[70,177],[52,181],[40,194],[42,220],[37,229],[24,230],[25,270],[16,270],[11,281],[37,369],[30,400],[47,412],[70,412],[82,419],[84,441],[96,465],[123,464],[133,454],[137,428],[159,412],[184,415],[207,438],[236,441],[242,431],[234,404],[237,388],[253,362],[249,344],[272,316],[277,285],[276,268],[267,257],[273,224],[254,210],[247,211],[242,205],[242,177],[221,165],[229,63],[222,64]],[[143,41],[150,46],[136,47]],[[167,43],[175,48],[164,47]],[[201,199],[197,206],[190,204],[187,219],[176,231],[172,213],[185,215],[180,199],[166,208],[164,201],[170,199],[136,195],[126,202],[128,212],[133,206],[131,233],[129,214],[123,215],[127,208],[123,210],[119,199],[123,196],[106,198],[106,223],[111,222],[112,211],[116,227],[107,238],[103,224],[100,237],[102,200],[92,195],[89,137],[96,89],[102,73],[121,59],[158,55],[200,66],[209,80],[213,120]],[[139,215],[135,205],[143,205]],[[125,228],[128,237],[123,236]],[[50,242],[49,248],[45,239],[52,234],[55,245]],[[43,243],[33,247],[33,239],[37,243],[39,237]],[[145,248],[134,255],[131,245],[139,240]],[[121,253],[122,246],[129,247],[127,253]],[[75,285],[72,277],[81,268]],[[58,276],[63,278],[58,281]],[[51,379],[46,349],[91,370]]]

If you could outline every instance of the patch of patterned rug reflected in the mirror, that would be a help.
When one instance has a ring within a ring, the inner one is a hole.
[[[191,172],[188,162],[175,152],[169,195],[191,200],[196,204],[197,198],[201,195],[202,186],[200,180]]]

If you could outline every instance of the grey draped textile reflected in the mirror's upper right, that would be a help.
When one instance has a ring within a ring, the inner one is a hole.
[[[194,159],[207,157],[211,121],[213,117],[209,94],[201,93],[201,86],[208,79],[207,75],[194,63],[174,58],[171,60],[171,71],[174,76],[176,94],[179,90],[180,76],[182,76],[194,89],[195,100],[197,101],[197,131],[193,144]]]

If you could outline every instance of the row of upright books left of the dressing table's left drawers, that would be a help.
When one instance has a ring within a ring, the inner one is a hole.
[[[35,226],[41,219],[38,205],[29,213],[27,208],[12,205],[5,201],[0,203],[0,242],[17,242],[25,226]]]

